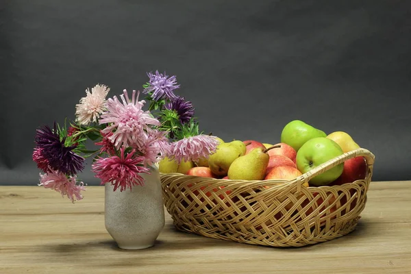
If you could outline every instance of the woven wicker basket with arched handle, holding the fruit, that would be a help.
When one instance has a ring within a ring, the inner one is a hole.
[[[309,186],[312,177],[364,157],[365,179]],[[352,232],[366,205],[374,155],[356,149],[290,181],[162,174],[163,201],[175,227],[209,238],[270,247],[303,247]]]

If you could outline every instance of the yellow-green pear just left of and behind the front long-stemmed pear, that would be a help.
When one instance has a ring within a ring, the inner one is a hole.
[[[240,140],[223,142],[217,146],[216,151],[208,158],[208,166],[215,175],[225,176],[232,162],[245,155],[245,150],[245,144]]]

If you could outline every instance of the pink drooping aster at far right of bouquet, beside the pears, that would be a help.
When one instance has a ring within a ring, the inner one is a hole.
[[[208,158],[208,155],[216,151],[217,145],[219,145],[219,141],[214,136],[200,134],[186,137],[171,143],[169,156],[175,158],[177,162],[182,160],[197,161],[200,158]]]

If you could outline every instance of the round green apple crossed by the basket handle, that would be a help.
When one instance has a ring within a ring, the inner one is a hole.
[[[341,149],[333,140],[325,137],[312,138],[302,145],[299,151],[297,151],[297,169],[301,171],[301,173],[307,173],[308,171],[315,169],[316,166],[340,155],[343,155],[343,149]],[[332,169],[313,177],[310,180],[310,185],[325,186],[330,184],[340,177],[343,173],[343,169],[344,164],[338,164]]]

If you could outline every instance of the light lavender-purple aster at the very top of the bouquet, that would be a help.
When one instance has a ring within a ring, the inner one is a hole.
[[[169,77],[165,72],[163,75],[162,73],[155,71],[155,74],[147,73],[147,76],[150,78],[149,86],[143,90],[143,93],[148,94],[152,91],[153,94],[151,95],[151,98],[153,98],[154,101],[176,98],[173,90],[179,88],[179,85],[177,85],[177,78],[175,75]]]

